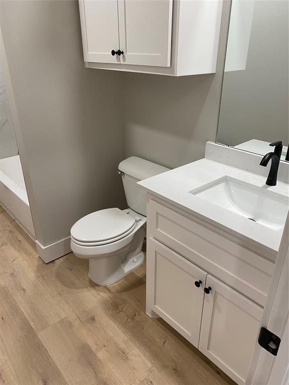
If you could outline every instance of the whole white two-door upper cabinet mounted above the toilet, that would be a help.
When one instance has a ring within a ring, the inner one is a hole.
[[[86,67],[214,73],[222,0],[79,0]]]

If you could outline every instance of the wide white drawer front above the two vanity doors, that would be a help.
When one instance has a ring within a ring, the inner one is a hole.
[[[148,238],[153,237],[264,305],[274,264],[214,233],[155,199],[148,202]]]

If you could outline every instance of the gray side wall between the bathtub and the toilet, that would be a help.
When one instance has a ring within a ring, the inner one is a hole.
[[[36,236],[46,246],[87,213],[125,205],[116,174],[122,79],[85,69],[76,1],[4,1],[0,23]]]

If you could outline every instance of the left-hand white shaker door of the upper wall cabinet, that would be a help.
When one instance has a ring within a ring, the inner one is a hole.
[[[85,62],[119,63],[117,0],[79,0]]]

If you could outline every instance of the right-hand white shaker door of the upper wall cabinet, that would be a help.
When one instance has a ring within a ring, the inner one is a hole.
[[[173,0],[118,0],[123,64],[170,67]]]

